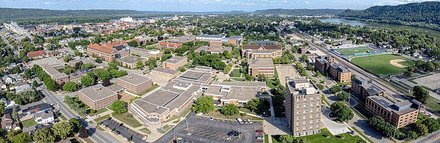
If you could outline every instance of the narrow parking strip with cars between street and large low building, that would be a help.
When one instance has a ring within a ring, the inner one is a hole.
[[[133,142],[144,142],[144,139],[142,140],[142,138],[144,138],[146,135],[140,134],[134,130],[131,130],[130,128],[126,127],[125,125],[121,125],[121,123],[116,122],[113,119],[105,119],[100,121],[99,123],[102,123],[103,125],[108,125],[107,127],[110,129],[114,128],[114,133],[116,134],[120,134],[126,138],[128,137],[132,137],[131,140]]]

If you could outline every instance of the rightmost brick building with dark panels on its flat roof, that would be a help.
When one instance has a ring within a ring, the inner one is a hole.
[[[396,128],[417,121],[421,102],[413,99],[394,103],[382,95],[366,97],[365,108],[385,119]]]

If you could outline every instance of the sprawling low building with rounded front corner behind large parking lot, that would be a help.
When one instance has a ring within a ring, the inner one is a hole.
[[[202,93],[202,84],[211,81],[214,73],[188,69],[159,89],[134,100],[130,112],[144,122],[159,123],[179,115]]]

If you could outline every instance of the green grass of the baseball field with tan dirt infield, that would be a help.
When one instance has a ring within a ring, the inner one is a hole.
[[[400,68],[389,63],[389,61],[392,59],[405,60],[402,62],[398,62],[399,64],[405,66],[413,66],[415,63],[414,61],[408,58],[393,54],[376,54],[376,55],[354,57],[350,61],[358,65],[359,67],[362,67],[363,69],[366,69],[376,75],[397,73],[406,70],[404,68]]]

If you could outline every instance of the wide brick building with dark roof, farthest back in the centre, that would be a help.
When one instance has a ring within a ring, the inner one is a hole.
[[[241,55],[245,58],[277,58],[282,56],[281,45],[242,45]]]

